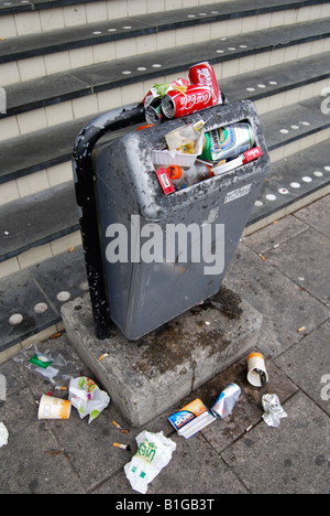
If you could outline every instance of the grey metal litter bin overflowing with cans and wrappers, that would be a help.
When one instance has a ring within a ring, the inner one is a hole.
[[[198,84],[156,85],[141,106],[114,117],[114,128],[121,118],[144,120],[139,130],[92,154],[86,131],[79,137],[92,175],[85,200],[87,171],[81,172],[84,152],[76,149],[77,200],[91,299],[99,297],[94,313],[100,338],[111,320],[127,338],[139,340],[217,293],[270,169],[254,104],[228,103],[217,83],[210,84],[209,65],[201,68],[199,75],[189,72]],[[152,123],[145,126],[145,119]],[[92,122],[92,132],[105,133],[107,123],[107,117]],[[86,224],[94,205],[92,223]]]

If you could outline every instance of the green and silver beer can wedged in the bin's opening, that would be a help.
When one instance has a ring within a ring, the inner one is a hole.
[[[217,162],[243,154],[254,144],[254,132],[250,123],[230,123],[205,135],[201,159]]]

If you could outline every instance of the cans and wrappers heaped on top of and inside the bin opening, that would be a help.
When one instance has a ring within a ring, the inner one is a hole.
[[[155,84],[143,99],[150,125],[226,103],[208,62],[189,68],[189,80],[178,78],[168,84]],[[253,128],[248,120],[210,131],[205,130],[207,122],[208,119],[185,123],[166,133],[163,144],[152,150],[152,162],[165,195],[222,175],[263,154],[261,148],[255,147]]]

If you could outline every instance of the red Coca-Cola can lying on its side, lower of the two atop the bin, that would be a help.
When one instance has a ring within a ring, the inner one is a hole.
[[[190,85],[185,93],[167,92],[162,109],[167,118],[180,118],[213,105],[212,90],[208,86]]]

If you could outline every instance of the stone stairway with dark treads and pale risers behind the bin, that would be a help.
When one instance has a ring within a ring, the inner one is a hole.
[[[329,1],[0,0],[0,362],[61,330],[61,304],[86,291],[79,130],[200,61],[229,101],[256,104],[266,137],[245,233],[328,193]]]

